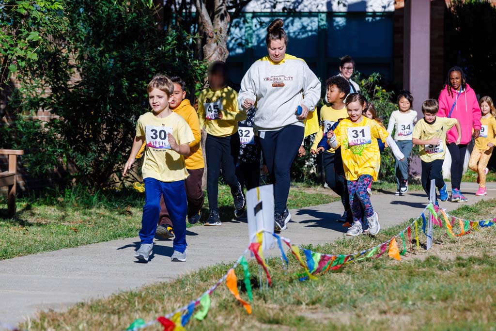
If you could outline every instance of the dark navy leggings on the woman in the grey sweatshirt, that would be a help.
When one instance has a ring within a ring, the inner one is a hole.
[[[303,141],[305,128],[289,125],[278,131],[260,132],[260,145],[274,183],[274,212],[282,213],[288,202],[291,165]]]

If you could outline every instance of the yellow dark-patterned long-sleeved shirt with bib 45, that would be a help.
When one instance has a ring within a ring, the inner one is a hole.
[[[219,111],[222,120],[217,119]],[[238,109],[238,93],[231,87],[206,88],[198,95],[198,118],[200,129],[206,126],[208,134],[225,137],[238,132],[238,122],[245,120],[247,113]]]

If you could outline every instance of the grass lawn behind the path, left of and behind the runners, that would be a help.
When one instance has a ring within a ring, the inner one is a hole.
[[[300,208],[336,199],[291,190],[288,207]],[[5,218],[5,210],[0,209],[0,260],[135,237],[141,227],[143,201],[144,194],[135,191],[90,195],[82,189],[19,198],[16,218]],[[208,217],[207,203],[202,219]],[[222,220],[234,217],[232,204],[230,190],[220,186]],[[0,208],[6,208],[6,199],[0,199]]]

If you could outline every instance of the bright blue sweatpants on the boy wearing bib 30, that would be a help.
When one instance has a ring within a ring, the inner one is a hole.
[[[145,205],[143,206],[143,217],[141,218],[141,230],[139,238],[141,244],[152,244],[155,231],[157,230],[157,219],[160,213],[160,197],[164,196],[167,210],[174,227],[175,251],[184,253],[186,250],[186,189],[185,181],[161,182],[155,178],[145,178]]]

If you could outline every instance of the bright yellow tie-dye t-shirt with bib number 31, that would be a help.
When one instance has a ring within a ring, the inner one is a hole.
[[[380,166],[377,139],[385,142],[389,133],[376,121],[362,116],[362,121],[357,123],[342,120],[334,134],[338,147],[341,146],[346,179],[356,181],[362,175],[371,175],[376,181]]]

